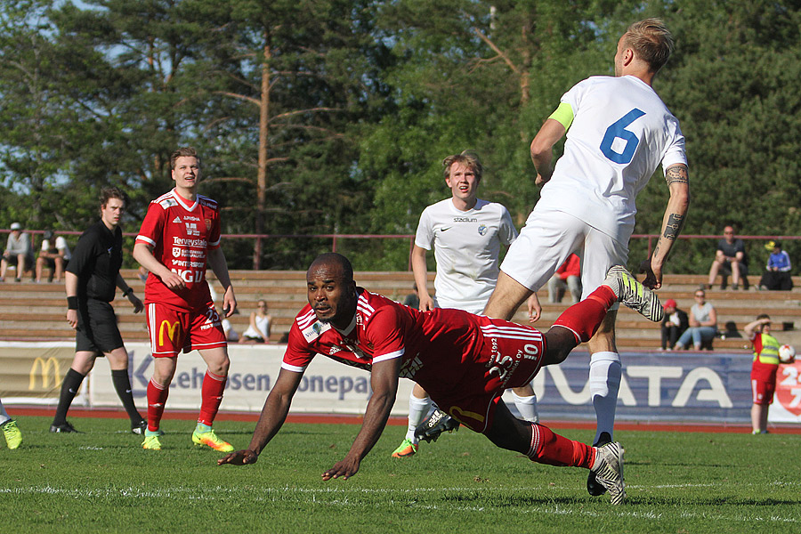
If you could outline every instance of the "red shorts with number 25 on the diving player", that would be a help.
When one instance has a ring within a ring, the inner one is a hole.
[[[506,320],[481,317],[483,342],[472,361],[458,370],[436,371],[453,376],[457,382],[418,382],[441,410],[469,429],[483,433],[506,389],[529,384],[542,366],[546,342],[542,333]],[[431,362],[426,361],[428,366]],[[417,376],[416,376],[417,378]]]

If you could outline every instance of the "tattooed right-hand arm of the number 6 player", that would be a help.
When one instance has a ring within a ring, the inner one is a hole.
[[[665,216],[662,217],[659,239],[651,254],[651,260],[645,260],[641,266],[646,273],[643,284],[653,289],[662,286],[662,268],[667,261],[667,254],[682,231],[684,217],[690,206],[690,174],[687,166],[677,164],[667,167],[665,180],[670,190],[670,198],[667,200]]]

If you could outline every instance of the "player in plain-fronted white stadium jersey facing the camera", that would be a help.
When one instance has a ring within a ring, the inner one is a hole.
[[[500,246],[510,245],[517,231],[505,206],[476,198],[483,166],[475,154],[465,151],[449,156],[442,165],[452,197],[423,210],[412,249],[419,309],[456,308],[481,313],[498,280]],[[425,265],[425,254],[432,248],[437,262],[434,296],[428,293]],[[517,392],[522,394],[517,396]],[[514,394],[522,416],[536,421],[537,398],[530,387],[515,388]],[[409,395],[409,429],[392,457],[409,457],[417,452],[415,430],[430,410],[428,393],[415,384]]]

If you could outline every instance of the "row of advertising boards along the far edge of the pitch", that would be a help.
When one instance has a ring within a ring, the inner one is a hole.
[[[153,357],[148,344],[126,344],[126,348],[134,399],[144,410]],[[8,404],[54,405],[74,350],[72,343],[0,342],[0,398]],[[231,370],[221,409],[260,411],[278,377],[284,346],[234,344],[229,352]],[[619,420],[731,424],[750,421],[748,354],[628,352],[621,358]],[[588,363],[589,354],[576,351],[562,365],[543,368],[535,378],[534,390],[544,421],[595,417],[587,384]],[[198,352],[182,354],[170,386],[167,409],[198,409],[205,372]],[[108,364],[98,360],[74,405],[119,406],[110,375]],[[409,380],[401,379],[392,415],[406,415],[411,387]],[[306,369],[291,411],[362,414],[370,393],[367,372],[318,355]],[[505,400],[514,407],[511,399]],[[801,423],[801,360],[780,366],[770,421]]]

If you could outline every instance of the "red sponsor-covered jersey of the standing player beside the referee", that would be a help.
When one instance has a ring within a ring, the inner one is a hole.
[[[137,243],[153,247],[153,255],[178,274],[186,287],[166,287],[152,272],[145,284],[145,303],[176,310],[205,311],[211,302],[206,283],[206,252],[220,247],[220,210],[211,198],[194,203],[171,190],[150,202]]]

